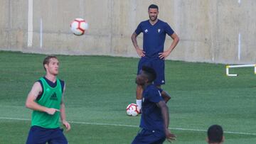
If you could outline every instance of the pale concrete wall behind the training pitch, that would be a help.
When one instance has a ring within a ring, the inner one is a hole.
[[[169,60],[256,62],[255,0],[0,0],[0,50],[138,57],[130,37],[152,3],[181,39]],[[85,35],[70,32],[77,17],[89,23]]]

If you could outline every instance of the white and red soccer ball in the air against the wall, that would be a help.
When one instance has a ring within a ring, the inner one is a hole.
[[[83,35],[85,30],[88,29],[88,23],[82,18],[75,18],[75,20],[70,23],[70,29],[75,35]]]

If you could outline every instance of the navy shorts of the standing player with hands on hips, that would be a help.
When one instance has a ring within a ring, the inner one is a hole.
[[[156,80],[154,80],[154,84],[156,86],[165,84],[165,79],[164,79],[164,60],[159,60],[159,59],[149,59],[147,57],[142,57],[139,60],[139,65],[138,65],[138,72],[139,74],[140,70],[142,70],[143,66],[151,67],[156,71]]]

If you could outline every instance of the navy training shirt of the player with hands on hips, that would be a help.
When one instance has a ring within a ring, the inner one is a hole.
[[[143,33],[143,50],[148,58],[159,58],[159,52],[164,51],[166,34],[172,35],[174,31],[168,23],[158,21],[152,26],[149,20],[142,21],[135,33]]]

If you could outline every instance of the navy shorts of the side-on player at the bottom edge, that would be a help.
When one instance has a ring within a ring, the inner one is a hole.
[[[149,131],[142,128],[132,141],[132,144],[161,144],[164,143],[165,139],[164,132]]]

